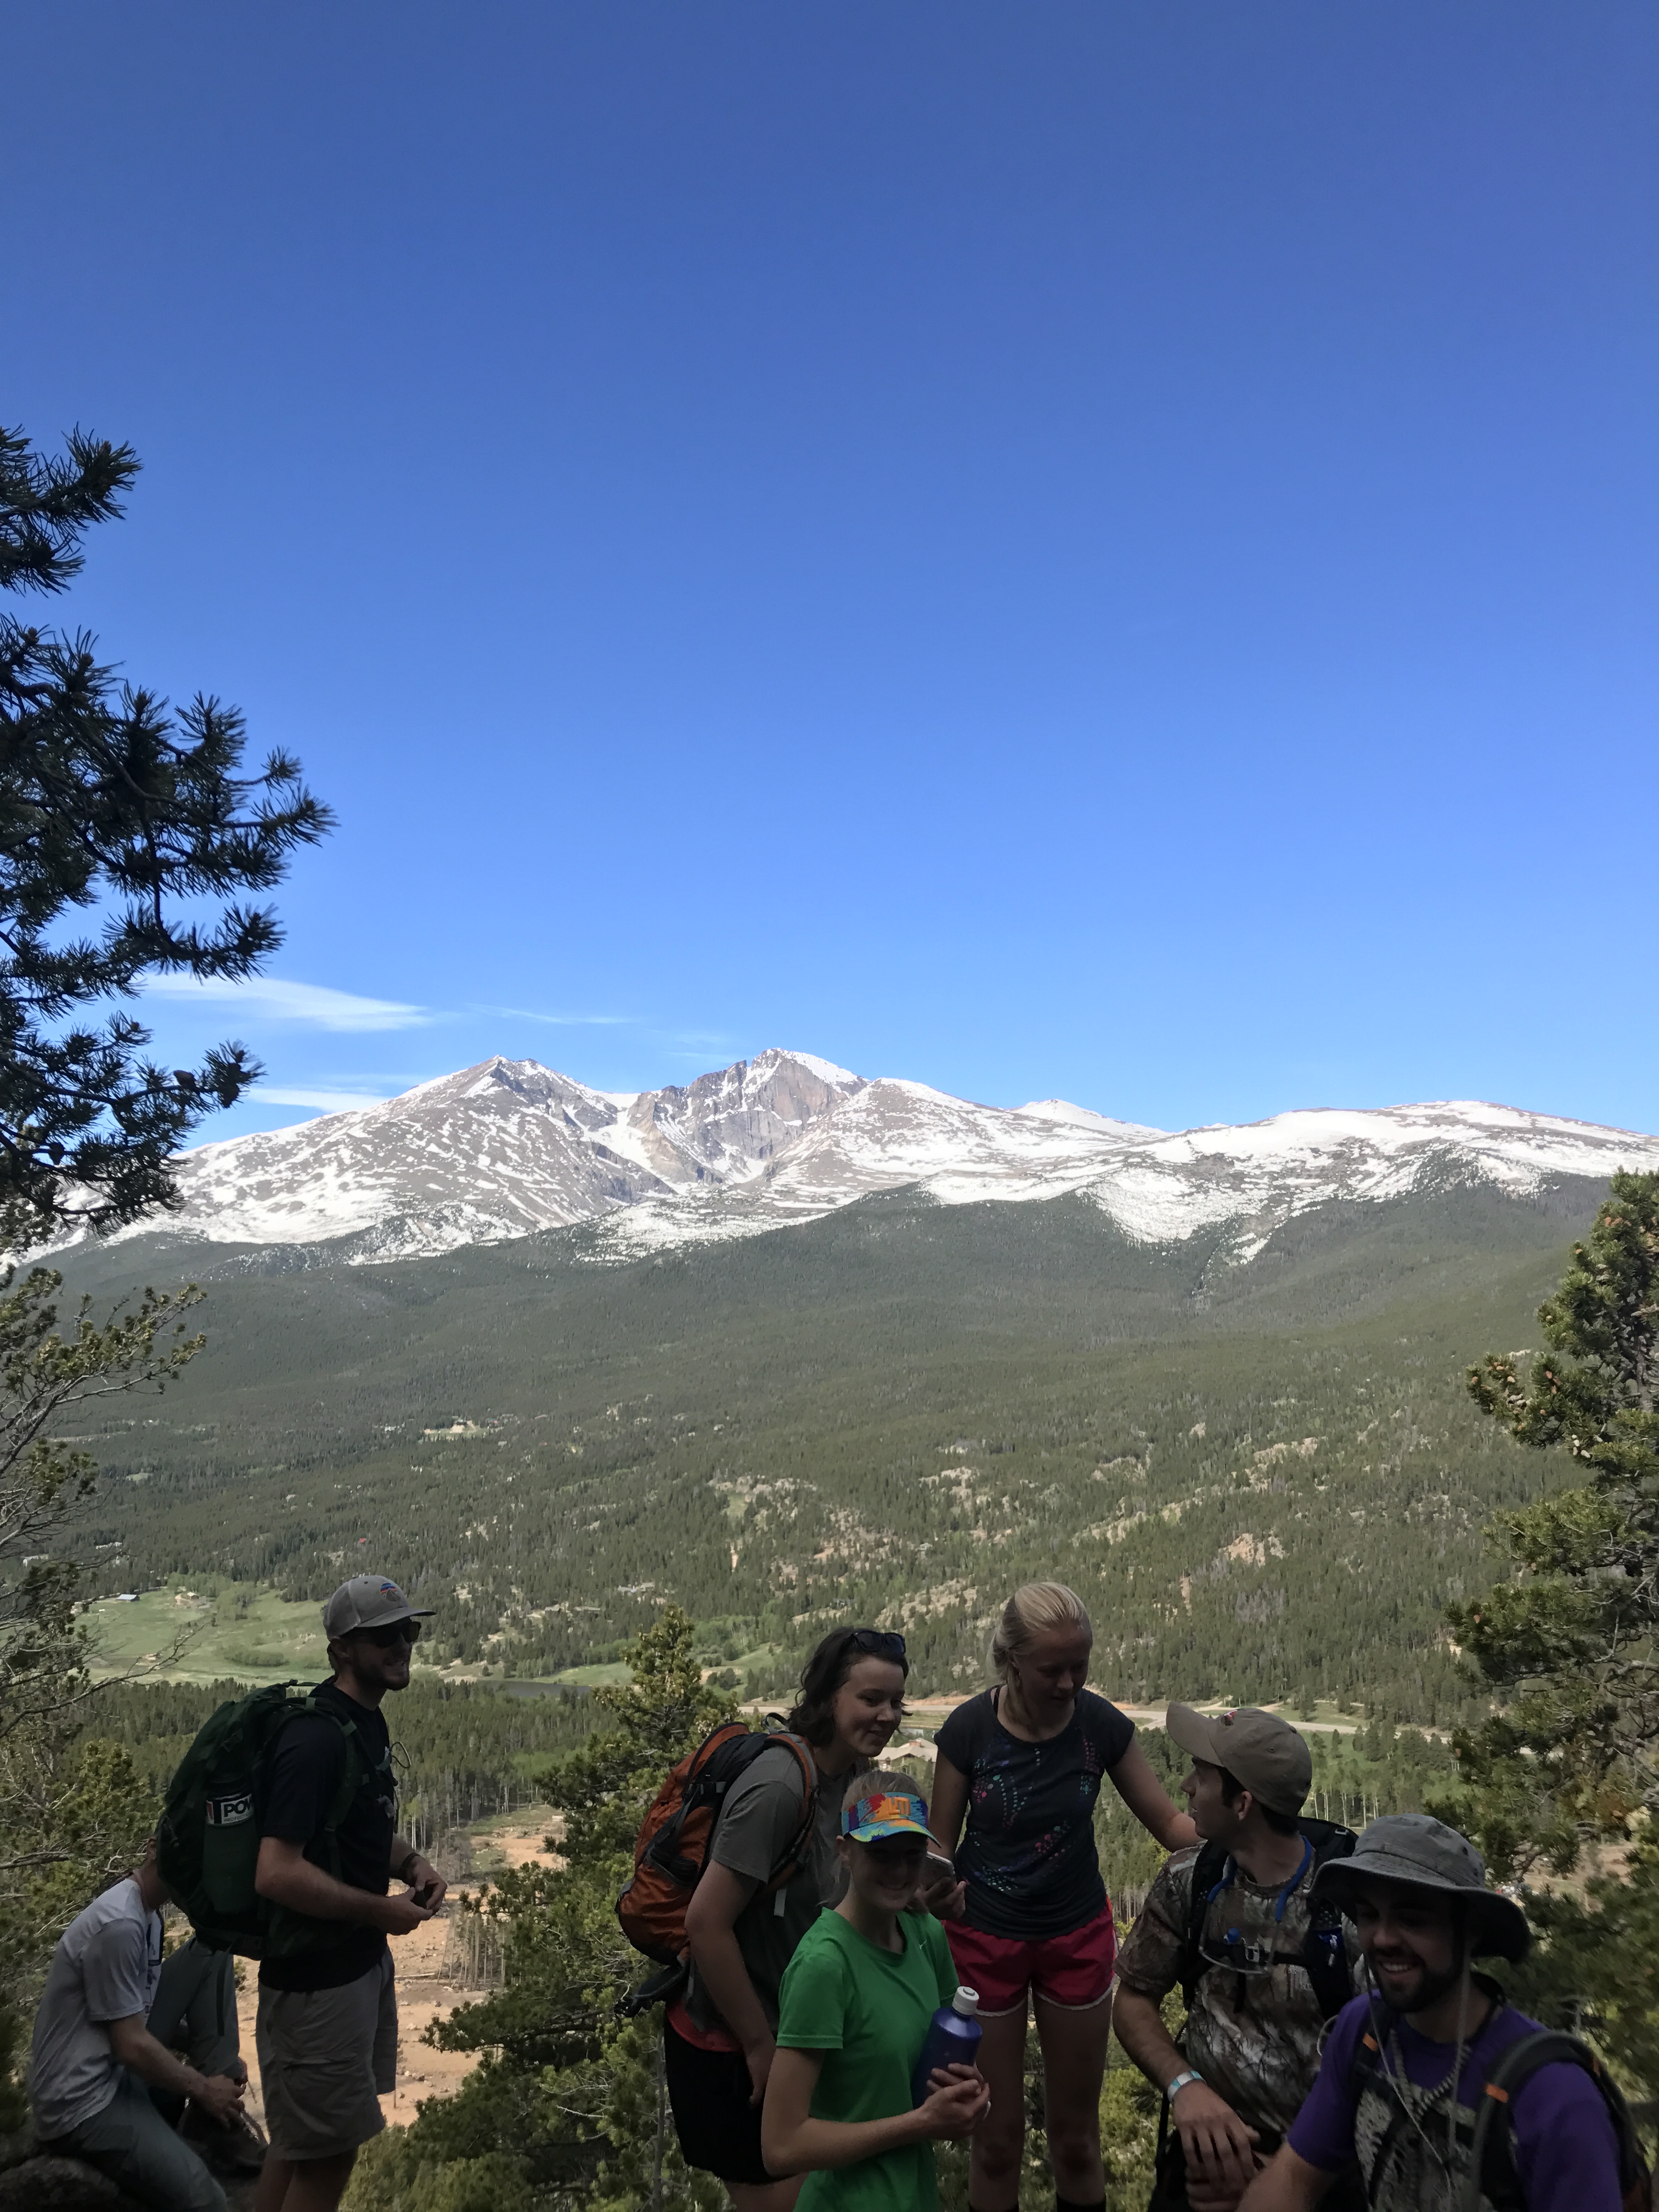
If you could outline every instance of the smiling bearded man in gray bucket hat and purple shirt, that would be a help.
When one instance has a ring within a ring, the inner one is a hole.
[[[1526,1916],[1486,1889],[1473,1843],[1427,1814],[1371,1820],[1316,1887],[1354,1920],[1376,1995],[1336,2020],[1318,2081],[1241,2212],[1307,2212],[1354,2163],[1376,2212],[1458,2212],[1486,2084],[1511,2044],[1542,2033],[1471,1962],[1524,1958]],[[1509,2117],[1526,2212],[1619,2212],[1619,2141],[1590,2073],[1540,2066]]]

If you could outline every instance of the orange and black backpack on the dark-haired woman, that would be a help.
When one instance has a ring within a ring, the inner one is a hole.
[[[818,1763],[812,1747],[781,1728],[750,1730],[743,1721],[726,1721],[668,1774],[639,1827],[633,1876],[617,1898],[617,1920],[635,1951],[644,1951],[661,1966],[681,1962],[686,1907],[708,1865],[726,1792],[761,1752],[774,1745],[794,1752],[801,1765],[801,1820],[761,1896],[783,1889],[805,1867],[812,1854],[812,1820],[818,1812]]]

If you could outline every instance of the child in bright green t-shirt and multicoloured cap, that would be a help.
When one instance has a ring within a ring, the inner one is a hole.
[[[916,1911],[927,1803],[902,1774],[860,1774],[841,1814],[847,1896],[801,1938],[779,1991],[779,2053],[761,2148],[774,2174],[807,2174],[796,2212],[933,2212],[933,2143],[971,2135],[989,2104],[973,2066],[909,2077],[956,1995],[945,1931]]]

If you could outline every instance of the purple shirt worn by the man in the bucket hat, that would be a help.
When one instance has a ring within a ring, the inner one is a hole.
[[[1354,1997],[1332,2022],[1318,2079],[1285,2137],[1298,2159],[1307,2159],[1310,2166],[1325,2172],[1347,2166],[1354,2157],[1354,2106],[1358,2099],[1349,2088],[1349,2075],[1369,2008],[1369,1997]],[[1478,2106],[1486,2086],[1486,2068],[1522,2035],[1535,2031],[1537,2022],[1528,2020],[1526,2013],[1506,2004],[1498,2006],[1480,2035],[1464,2048],[1458,2101]],[[1438,2088],[1451,2073],[1455,2044],[1433,2044],[1427,2035],[1418,2035],[1409,2022],[1398,2020],[1394,2051],[1400,2053],[1409,2081],[1416,2081],[1418,2088]],[[1515,2093],[1511,2115],[1526,2212],[1619,2212],[1619,2146],[1601,2090],[1582,2066],[1566,2059],[1540,2066],[1533,2079]]]

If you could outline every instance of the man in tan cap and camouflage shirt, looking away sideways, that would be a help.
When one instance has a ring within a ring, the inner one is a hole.
[[[1301,1818],[1314,1763],[1276,1714],[1170,1705],[1166,1725],[1192,1756],[1183,1790],[1203,1843],[1152,1882],[1117,1960],[1113,2024],[1164,2097],[1155,2212],[1230,2212],[1314,2086],[1325,2022],[1354,1995],[1358,1947],[1314,1902],[1314,1876],[1354,1836]],[[1159,2011],[1177,1986],[1183,2048]]]

